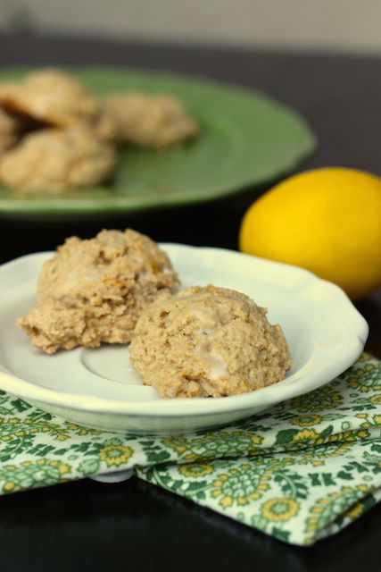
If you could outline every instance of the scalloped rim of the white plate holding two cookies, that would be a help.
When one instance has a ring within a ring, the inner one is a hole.
[[[228,398],[213,398],[212,400],[205,399],[178,399],[178,400],[155,400],[151,402],[146,401],[126,401],[121,402],[118,400],[106,400],[104,398],[92,397],[90,395],[83,395],[80,393],[66,393],[63,391],[54,391],[50,389],[37,386],[32,382],[21,380],[15,375],[1,373],[0,374],[0,387],[4,391],[10,391],[15,395],[26,400],[38,401],[41,404],[56,405],[60,407],[68,407],[77,411],[91,411],[93,413],[112,413],[113,415],[128,415],[128,416],[145,416],[145,417],[173,417],[173,416],[200,416],[210,415],[213,413],[234,412],[237,409],[249,411],[251,408],[263,406],[267,408],[279,401],[294,398],[306,392],[312,391],[317,387],[328,383],[336,375],[344,372],[344,369],[351,366],[357,357],[359,357],[368,337],[369,326],[365,319],[360,315],[358,310],[352,305],[352,302],[346,297],[343,290],[330,282],[323,281],[302,268],[292,265],[285,265],[262,258],[251,257],[242,253],[225,250],[223,248],[203,248],[203,247],[190,247],[188,245],[165,243],[161,245],[169,252],[170,256],[174,256],[175,251],[189,253],[193,251],[197,257],[236,257],[240,265],[252,266],[257,265],[261,271],[268,267],[271,272],[288,274],[289,276],[296,276],[301,281],[301,291],[313,293],[313,290],[318,289],[320,293],[324,291],[327,298],[334,307],[346,315],[352,323],[352,331],[347,327],[344,331],[347,333],[347,338],[344,338],[345,343],[338,347],[342,349],[342,353],[338,354],[339,359],[333,363],[332,347],[328,349],[320,348],[314,356],[314,363],[318,365],[316,370],[313,369],[304,373],[304,382],[292,380],[293,376],[286,377],[283,382],[271,385],[267,388],[236,395]],[[46,255],[52,253],[35,253],[26,255],[24,257],[16,258],[11,262],[5,263],[0,266],[0,279],[7,272],[11,271],[19,265],[22,268],[23,264],[28,264],[29,261],[39,259],[43,261]],[[214,264],[214,260],[213,260]],[[307,288],[306,288],[307,286]],[[244,290],[244,289],[243,289]],[[324,302],[326,303],[326,301]],[[339,304],[339,305],[338,305]],[[341,307],[340,307],[341,304]],[[0,312],[1,315],[1,312]],[[334,347],[335,349],[335,347]],[[51,357],[54,359],[54,357]],[[298,372],[294,373],[294,376]],[[250,413],[247,413],[250,415]]]

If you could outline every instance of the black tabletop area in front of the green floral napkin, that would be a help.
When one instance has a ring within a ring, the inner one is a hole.
[[[255,569],[256,572],[377,569],[379,507],[311,548],[280,543],[133,478],[74,484],[0,499],[0,568]],[[372,562],[376,568],[372,568]]]

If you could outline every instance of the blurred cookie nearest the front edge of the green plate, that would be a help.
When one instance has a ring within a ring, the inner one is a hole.
[[[105,181],[116,164],[115,148],[92,131],[41,130],[2,157],[0,179],[11,189],[54,193]]]

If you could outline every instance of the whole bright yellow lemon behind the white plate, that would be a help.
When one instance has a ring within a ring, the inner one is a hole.
[[[239,248],[307,268],[360,299],[381,284],[381,179],[331,167],[294,175],[249,207]]]

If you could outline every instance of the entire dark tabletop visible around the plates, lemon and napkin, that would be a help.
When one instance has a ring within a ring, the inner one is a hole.
[[[299,170],[340,165],[381,175],[381,59],[95,39],[0,35],[0,65],[112,64],[180,71],[261,89],[310,122],[319,149]],[[244,210],[269,187],[200,206],[66,221],[2,219],[0,263],[54,249],[70,234],[130,226],[158,241],[237,248]],[[211,226],[211,220],[213,225]],[[357,304],[381,357],[381,291]],[[0,570],[379,569],[381,505],[309,549],[291,547],[132,478],[84,480],[0,498]]]

